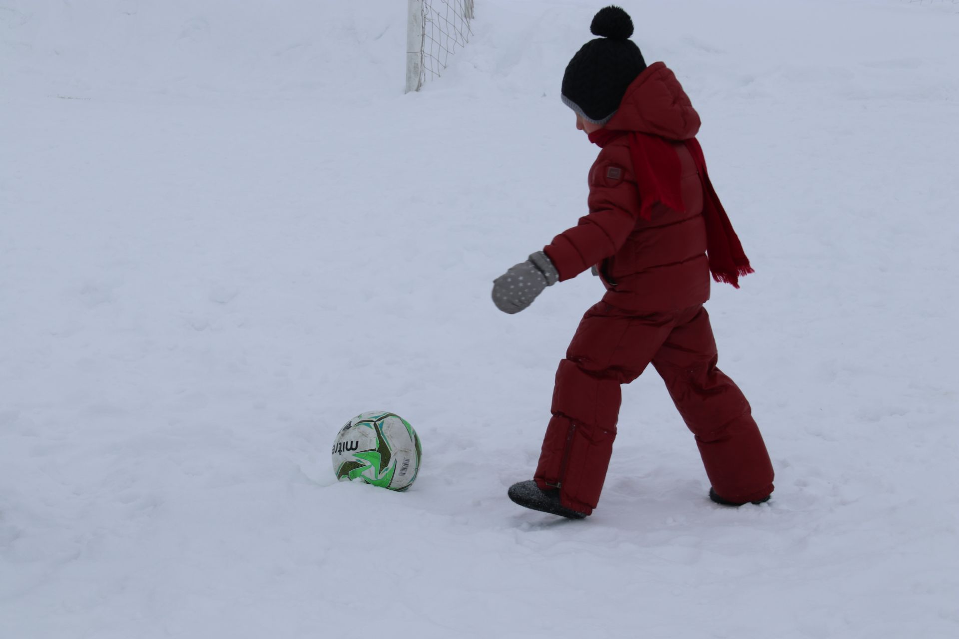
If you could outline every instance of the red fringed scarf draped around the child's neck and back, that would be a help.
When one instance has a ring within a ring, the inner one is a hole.
[[[590,133],[590,142],[605,147],[621,135],[629,136],[629,151],[633,158],[633,172],[640,192],[640,217],[650,219],[653,205],[662,202],[673,211],[685,211],[683,195],[680,192],[679,156],[671,144],[657,135],[631,131],[611,131],[605,128]],[[692,155],[696,170],[703,178],[703,218],[706,220],[706,251],[710,261],[710,271],[716,282],[725,282],[739,287],[739,278],[753,272],[749,258],[742,250],[742,244],[733,224],[730,223],[722,202],[713,189],[709,173],[706,171],[706,158],[703,149],[695,138],[684,142]]]

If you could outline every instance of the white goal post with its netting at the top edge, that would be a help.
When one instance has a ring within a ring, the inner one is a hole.
[[[473,0],[408,0],[407,93],[438,78],[472,34]]]

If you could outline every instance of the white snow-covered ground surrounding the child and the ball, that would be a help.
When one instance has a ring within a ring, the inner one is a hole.
[[[523,511],[601,293],[493,278],[582,214],[601,6],[0,0],[0,637],[959,636],[959,5],[625,2],[757,267],[709,309],[774,499],[706,498],[649,371],[596,514]],[[418,429],[413,490],[339,426]]]

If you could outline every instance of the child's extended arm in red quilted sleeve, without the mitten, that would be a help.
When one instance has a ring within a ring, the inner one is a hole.
[[[636,226],[640,196],[629,148],[603,148],[590,171],[589,215],[556,236],[544,252],[559,281],[570,280],[620,250]]]

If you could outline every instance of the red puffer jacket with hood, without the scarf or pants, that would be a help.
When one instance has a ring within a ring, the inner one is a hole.
[[[629,136],[621,136],[599,151],[590,170],[589,215],[544,249],[560,281],[596,265],[606,285],[603,301],[638,314],[689,308],[709,299],[703,182],[680,142],[695,137],[699,125],[689,97],[663,62],[630,84],[605,128],[675,141],[671,146],[682,166],[686,210],[657,203],[651,219],[640,217]]]

